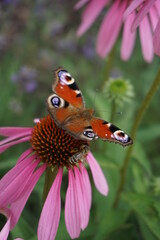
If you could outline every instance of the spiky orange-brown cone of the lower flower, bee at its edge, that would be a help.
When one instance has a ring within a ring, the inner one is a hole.
[[[89,149],[87,141],[75,139],[57,127],[49,115],[34,126],[30,142],[42,162],[49,166],[76,165],[84,160]]]

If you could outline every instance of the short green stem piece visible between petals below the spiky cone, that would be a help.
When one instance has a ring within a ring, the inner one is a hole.
[[[52,183],[54,182],[54,179],[57,175],[57,171],[58,171],[58,168],[51,168],[51,167],[48,167],[46,169],[46,174],[45,174],[45,183],[44,183],[44,188],[43,188],[43,196],[42,196],[42,201],[43,201],[43,204],[47,198],[47,195],[48,195],[48,192],[52,186]]]

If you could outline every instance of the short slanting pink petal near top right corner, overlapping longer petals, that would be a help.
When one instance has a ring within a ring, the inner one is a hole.
[[[133,22],[133,25],[132,25],[132,31],[135,31],[135,29],[140,25],[141,21],[145,18],[146,14],[149,12],[154,2],[155,0],[150,0],[148,2],[145,2],[144,6],[136,15],[135,21]]]

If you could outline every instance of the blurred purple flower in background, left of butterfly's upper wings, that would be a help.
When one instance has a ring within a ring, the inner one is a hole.
[[[18,73],[11,76],[11,81],[21,84],[26,92],[32,93],[37,88],[37,71],[24,66]]]

